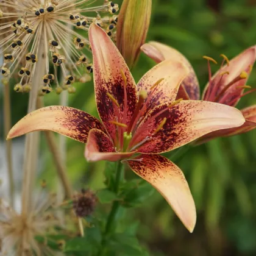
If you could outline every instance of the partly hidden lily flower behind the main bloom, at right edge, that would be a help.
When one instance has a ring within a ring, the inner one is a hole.
[[[194,73],[190,62],[188,62],[179,51],[154,41],[141,46],[141,50],[157,63],[168,59],[178,59],[183,62],[184,65],[187,65],[188,68],[190,68],[190,76],[183,80],[183,86],[180,87],[179,94],[183,95],[183,98],[185,98],[184,95],[187,93],[187,99],[199,99],[199,84],[197,82],[196,74]],[[218,102],[235,107],[243,96],[256,91],[256,89],[252,89],[244,92],[244,90],[251,88],[246,85],[246,82],[256,60],[256,46],[246,49],[232,60],[229,60],[224,54],[221,54],[221,57],[223,58],[221,68],[212,76],[210,62],[216,64],[217,62],[211,57],[204,56],[204,59],[207,59],[208,61],[209,82],[202,94],[202,101]],[[224,65],[225,62],[226,65]],[[242,109],[241,113],[243,113],[243,116],[246,119],[243,126],[208,133],[197,142],[205,143],[216,137],[237,135],[255,129],[256,105]]]

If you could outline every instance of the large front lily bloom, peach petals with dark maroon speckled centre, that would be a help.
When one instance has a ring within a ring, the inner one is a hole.
[[[7,139],[35,130],[52,130],[82,143],[88,161],[123,160],[151,183],[192,232],[196,208],[183,172],[158,155],[219,129],[241,126],[236,108],[207,101],[176,100],[189,73],[176,60],[166,60],[138,84],[122,55],[100,27],[89,30],[94,63],[96,103],[102,123],[72,107],[51,106],[21,119]]]

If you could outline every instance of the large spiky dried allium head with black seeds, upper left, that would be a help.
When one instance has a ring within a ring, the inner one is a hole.
[[[15,91],[30,91],[40,59],[43,59],[45,70],[44,77],[38,81],[41,84],[40,94],[51,92],[53,83],[57,94],[62,90],[74,93],[75,80],[81,80],[85,71],[93,72],[88,28],[95,23],[111,37],[115,34],[118,11],[118,5],[114,2],[105,0],[95,7],[91,6],[93,2],[0,1],[0,51],[4,54],[0,72],[4,77],[16,74],[20,81],[15,85]],[[109,15],[102,17],[100,13]],[[59,73],[63,77],[60,84]]]

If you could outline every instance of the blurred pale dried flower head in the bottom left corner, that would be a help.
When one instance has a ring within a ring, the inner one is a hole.
[[[44,182],[42,188],[44,188]],[[55,234],[55,227],[60,227],[55,212],[56,197],[41,190],[31,212],[17,213],[0,198],[0,255],[56,255],[44,243],[38,243],[36,237],[46,238]]]

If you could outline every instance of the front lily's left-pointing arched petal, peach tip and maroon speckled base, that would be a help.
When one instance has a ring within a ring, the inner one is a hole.
[[[73,107],[43,107],[29,113],[12,127],[7,139],[35,130],[51,130],[85,143],[92,128],[105,130],[101,122],[90,114]]]

